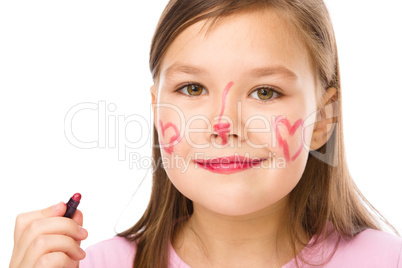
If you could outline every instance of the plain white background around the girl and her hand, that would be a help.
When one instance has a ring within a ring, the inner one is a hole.
[[[124,151],[109,142],[105,148],[73,146],[64,121],[77,104],[104,102],[117,108],[106,111],[110,122],[138,115],[150,124],[149,46],[166,2],[0,2],[1,267],[11,256],[19,213],[81,192],[86,248],[128,228],[145,209],[151,172],[132,198],[146,168],[130,167],[128,159],[119,158]],[[340,55],[348,164],[363,194],[402,232],[398,2],[327,0],[327,5]],[[97,139],[97,118],[97,111],[77,114],[76,137]],[[124,126],[121,122],[115,133],[133,142],[140,133],[150,138],[149,126]],[[106,129],[116,128],[110,123]],[[147,165],[150,143],[126,152],[141,155]]]

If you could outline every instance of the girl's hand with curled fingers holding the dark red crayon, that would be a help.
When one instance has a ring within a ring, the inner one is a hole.
[[[10,268],[78,267],[85,252],[81,240],[88,236],[82,228],[83,215],[77,210],[72,219],[62,217],[66,204],[18,215]]]

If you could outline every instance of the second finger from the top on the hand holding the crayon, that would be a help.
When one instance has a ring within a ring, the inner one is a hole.
[[[76,241],[81,241],[88,236],[88,232],[84,228],[68,218],[53,217],[36,220],[26,228],[26,231],[15,246],[16,258],[22,259],[28,247],[36,238],[51,234],[69,236]]]

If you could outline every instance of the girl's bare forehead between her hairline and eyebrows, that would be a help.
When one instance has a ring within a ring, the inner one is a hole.
[[[234,14],[213,25],[211,21],[191,25],[176,37],[162,60],[162,79],[174,75],[172,66],[177,65],[196,65],[204,71],[200,73],[220,75],[239,75],[267,65],[282,66],[296,77],[312,71],[299,35],[275,11]]]

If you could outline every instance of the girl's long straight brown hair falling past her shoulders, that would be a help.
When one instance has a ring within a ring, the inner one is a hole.
[[[328,222],[346,239],[367,228],[380,229],[378,219],[388,222],[360,193],[345,161],[338,53],[331,19],[322,0],[171,0],[152,40],[150,69],[154,81],[158,81],[161,61],[168,47],[186,28],[199,21],[214,22],[238,12],[261,8],[274,9],[300,34],[320,82],[317,96],[330,87],[337,90],[336,99],[332,100],[337,111],[335,128],[328,142],[309,154],[302,178],[289,195],[288,220],[301,223],[309,237],[325,236]],[[173,186],[160,165],[155,127],[152,153],[157,164],[154,165],[148,208],[132,228],[119,234],[137,243],[134,267],[167,267],[168,245],[180,228],[178,220],[193,213],[192,201]],[[324,159],[318,159],[314,153],[323,155]],[[296,245],[305,244],[296,229],[287,231],[296,255]]]

